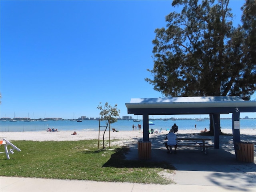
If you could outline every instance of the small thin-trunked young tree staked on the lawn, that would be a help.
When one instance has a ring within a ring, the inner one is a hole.
[[[117,108],[117,104],[115,104],[115,106],[112,107],[107,102],[105,103],[104,106],[102,106],[102,104],[100,102],[97,109],[100,110],[100,117],[101,117],[100,120],[106,120],[106,128],[105,128],[104,134],[103,134],[103,149],[105,149],[105,145],[104,145],[105,132],[106,132],[107,128],[110,127],[111,123],[117,122],[116,117],[119,117],[120,110]]]

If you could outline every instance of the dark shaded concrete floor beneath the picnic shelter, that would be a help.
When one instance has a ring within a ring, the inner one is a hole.
[[[178,137],[205,138],[206,136],[199,136],[198,134],[179,134]],[[177,154],[167,154],[167,150],[164,146],[164,142],[166,142],[165,138],[166,134],[150,135],[150,141],[152,143],[151,159],[146,161],[168,162],[175,167],[178,165],[176,170],[215,171],[216,168],[214,167],[217,165],[244,165],[250,167],[251,171],[256,171],[255,157],[254,163],[238,162],[236,160],[232,136],[220,136],[220,148],[208,148],[208,154],[204,154],[199,147],[178,147]],[[212,136],[208,136],[208,138],[213,140]],[[139,160],[138,145],[134,143],[129,147],[130,151],[126,154],[126,159]]]

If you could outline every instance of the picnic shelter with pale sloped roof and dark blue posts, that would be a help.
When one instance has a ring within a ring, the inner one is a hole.
[[[219,114],[232,113],[234,147],[240,142],[240,113],[256,112],[256,101],[239,96],[132,98],[125,104],[128,114],[143,116],[143,142],[149,142],[149,115],[209,114],[214,128],[214,148],[219,148]]]

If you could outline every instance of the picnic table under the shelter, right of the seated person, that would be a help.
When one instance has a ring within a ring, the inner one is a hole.
[[[207,141],[210,141],[210,138],[176,138],[177,146],[179,147],[200,147],[202,152],[205,154],[208,153],[208,147],[213,147],[209,145]]]

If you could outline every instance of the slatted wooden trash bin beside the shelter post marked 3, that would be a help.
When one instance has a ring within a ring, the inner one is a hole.
[[[241,162],[254,162],[253,143],[238,142],[236,143],[236,158]]]

